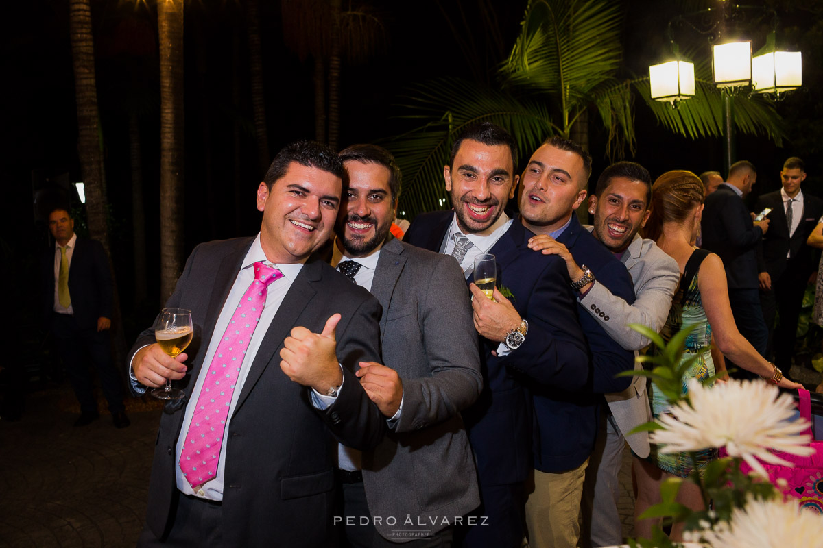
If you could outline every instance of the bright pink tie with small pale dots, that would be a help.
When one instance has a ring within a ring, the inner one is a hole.
[[[237,375],[266,305],[268,284],[282,276],[283,273],[272,266],[254,263],[254,281],[240,299],[226,333],[217,345],[180,452],[180,470],[193,488],[211,480],[217,473]]]

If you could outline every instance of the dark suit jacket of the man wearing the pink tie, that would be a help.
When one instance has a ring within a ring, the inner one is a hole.
[[[195,339],[187,349],[187,398],[202,367],[217,316],[253,238],[208,242],[188,257],[166,306],[188,308]],[[310,390],[280,368],[280,350],[291,329],[320,333],[328,317],[337,325],[337,358],[343,387],[337,401],[316,410]],[[226,546],[333,546],[334,455],[337,440],[357,449],[379,443],[386,421],[353,374],[359,361],[379,361],[380,306],[365,289],[319,260],[308,260],[283,298],[250,364],[226,441],[223,540]],[[198,337],[198,332],[202,334]],[[219,335],[218,335],[219,336]],[[255,337],[263,334],[255,334]],[[144,331],[129,353],[154,342]],[[175,447],[184,411],[163,414],[149,484],[147,523],[157,536],[170,526]]]

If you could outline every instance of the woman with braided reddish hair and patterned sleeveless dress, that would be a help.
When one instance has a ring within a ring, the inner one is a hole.
[[[660,334],[668,341],[684,327],[697,325],[686,339],[682,360],[697,356],[690,367],[688,378],[704,380],[714,375],[711,340],[720,352],[748,371],[784,388],[802,386],[783,377],[780,370],[761,357],[737,330],[728,302],[728,287],[723,261],[720,257],[692,245],[700,228],[703,213],[704,190],[700,178],[689,171],[663,173],[652,187],[652,214],[644,228],[643,237],[653,239],[660,249],[674,260],[681,271],[681,284],[672,300],[666,325]],[[686,382],[683,384],[686,393]],[[649,398],[655,416],[667,412],[667,398],[651,383]],[[693,467],[688,454],[660,454],[653,447],[649,458],[634,459],[636,504],[635,528],[638,536],[651,537],[654,519],[639,521],[637,517],[652,504],[660,502],[660,484],[667,477],[687,477]],[[712,458],[714,450],[698,455],[697,468]],[[699,488],[690,481],[681,485],[677,501],[691,509],[702,509]],[[672,527],[672,540],[681,540],[681,525]]]

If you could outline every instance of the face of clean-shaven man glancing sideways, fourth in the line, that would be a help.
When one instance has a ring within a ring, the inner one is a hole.
[[[586,197],[583,159],[570,150],[542,145],[528,161],[520,192],[523,226],[536,234],[562,227]]]

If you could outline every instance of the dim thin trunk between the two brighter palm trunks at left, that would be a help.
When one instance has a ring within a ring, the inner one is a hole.
[[[140,150],[140,119],[128,117],[128,143],[132,163],[132,237],[134,262],[134,305],[146,301],[146,210],[143,205],[143,168]]]

